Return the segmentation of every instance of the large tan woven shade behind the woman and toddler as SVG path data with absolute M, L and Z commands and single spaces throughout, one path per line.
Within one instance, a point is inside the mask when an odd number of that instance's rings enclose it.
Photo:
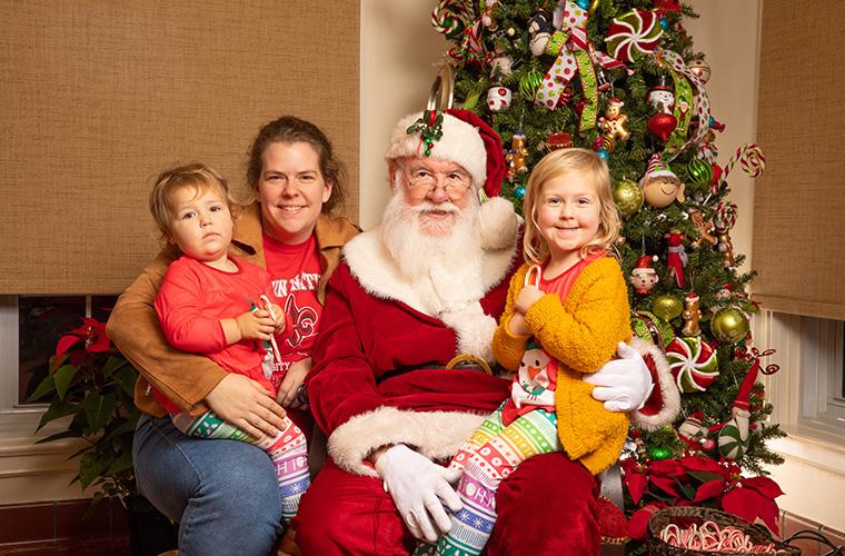
M 158 250 L 158 171 L 201 160 L 242 192 L 282 113 L 332 138 L 356 218 L 358 2 L 0 0 L 0 294 L 122 290 Z

